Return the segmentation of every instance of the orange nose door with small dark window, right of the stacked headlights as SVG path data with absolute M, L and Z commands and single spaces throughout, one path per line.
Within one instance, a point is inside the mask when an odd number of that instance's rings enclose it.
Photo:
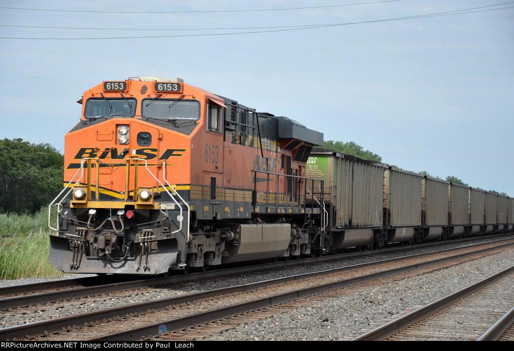
M 130 124 L 130 158 L 139 158 L 146 160 L 148 169 L 152 172 L 157 179 L 162 179 L 159 175 L 159 143 L 162 139 L 162 134 L 159 129 L 151 127 L 147 124 L 139 122 L 132 122 Z M 128 189 L 131 191 L 137 191 L 139 187 L 158 187 L 159 183 L 149 174 L 145 168 L 143 161 L 138 162 L 138 166 L 131 162 L 131 166 L 128 169 L 129 172 L 129 186 Z M 137 173 L 137 174 L 136 174 Z M 137 177 L 136 177 L 137 175 Z

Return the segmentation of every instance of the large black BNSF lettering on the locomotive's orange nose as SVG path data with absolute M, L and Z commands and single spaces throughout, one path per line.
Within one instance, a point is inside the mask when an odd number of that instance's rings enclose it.
M 159 157 L 159 160 L 168 160 L 170 157 L 174 156 L 182 156 L 183 152 L 186 151 L 186 149 L 167 149 L 164 151 L 161 156 Z M 141 156 L 142 159 L 145 160 L 153 160 L 158 155 L 158 150 L 154 148 L 142 148 L 142 149 L 136 149 L 133 152 L 134 155 Z M 100 160 L 103 159 L 113 159 L 113 160 L 123 160 L 128 156 L 128 149 L 124 148 L 123 150 L 118 151 L 115 147 L 108 147 L 104 150 L 100 150 L 94 147 L 82 147 L 79 149 L 77 154 L 75 155 L 75 160 L 81 160 L 83 158 L 99 158 Z

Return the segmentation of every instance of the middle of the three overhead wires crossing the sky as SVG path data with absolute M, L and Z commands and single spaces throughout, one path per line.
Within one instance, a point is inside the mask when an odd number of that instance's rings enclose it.
M 442 15 L 446 13 L 453 13 L 453 12 L 462 12 L 462 11 L 471 11 L 471 10 L 478 10 L 483 9 L 486 7 L 492 7 L 492 6 L 500 6 L 500 5 L 506 5 L 506 4 L 514 4 L 514 1 L 508 2 L 508 3 L 501 3 L 501 4 L 494 4 L 494 5 L 486 5 L 486 6 L 480 6 L 480 7 L 473 7 L 469 9 L 464 10 L 454 10 L 454 11 L 447 11 L 447 12 L 439 12 L 432 15 Z M 507 9 L 510 7 L 503 7 L 495 10 L 502 10 Z M 478 12 L 478 11 L 477 11 Z M 411 17 L 423 17 L 427 15 L 420 15 L 420 16 L 410 16 Z M 407 18 L 407 17 L 406 17 Z M 394 20 L 394 18 L 392 19 Z M 0 24 L 0 27 L 14 27 L 14 28 L 44 28 L 44 29 L 79 29 L 79 30 L 240 30 L 240 29 L 277 29 L 277 28 L 302 28 L 302 27 L 323 27 L 323 26 L 332 26 L 332 25 L 344 25 L 340 23 L 332 23 L 332 24 L 309 24 L 309 25 L 296 25 L 296 26 L 265 26 L 265 27 L 229 27 L 229 28 L 93 28 L 93 27 L 57 27 L 57 26 L 25 26 L 25 25 L 6 25 L 6 24 Z

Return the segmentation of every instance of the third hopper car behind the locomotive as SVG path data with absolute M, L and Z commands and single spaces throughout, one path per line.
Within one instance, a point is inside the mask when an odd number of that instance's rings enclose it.
M 423 233 L 421 239 L 446 239 L 448 236 L 448 195 L 450 183 L 424 177 L 421 182 L 421 214 Z

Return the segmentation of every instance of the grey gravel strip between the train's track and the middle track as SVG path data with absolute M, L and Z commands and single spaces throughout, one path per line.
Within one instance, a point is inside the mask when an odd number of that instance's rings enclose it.
M 501 239 L 514 237 L 505 236 Z M 465 242 L 443 242 L 439 245 L 430 247 L 415 247 L 410 246 L 408 251 L 396 252 L 373 252 L 370 251 L 369 255 L 353 257 L 353 258 L 340 258 L 331 261 L 315 262 L 308 264 L 301 264 L 298 266 L 286 266 L 284 268 L 274 268 L 267 270 L 249 271 L 242 274 L 232 274 L 223 277 L 207 278 L 199 281 L 186 281 L 180 283 L 167 284 L 158 287 L 141 288 L 129 291 L 114 291 L 113 293 L 102 294 L 95 296 L 93 299 L 77 298 L 69 301 L 48 302 L 31 306 L 30 312 L 16 313 L 9 311 L 0 311 L 0 328 L 8 326 L 26 324 L 36 321 L 56 319 L 60 317 L 70 316 L 79 313 L 86 313 L 99 309 L 106 309 L 126 304 L 133 304 L 145 301 L 158 300 L 178 295 L 186 295 L 204 291 L 209 289 L 222 288 L 233 285 L 247 284 L 251 282 L 258 282 L 268 279 L 281 278 L 291 275 L 298 275 L 318 270 L 337 268 L 341 266 L 349 266 L 366 262 L 373 262 L 379 260 L 386 260 L 395 257 L 406 255 L 413 255 L 415 253 L 424 253 L 434 250 L 458 247 L 463 245 L 478 244 L 481 242 L 488 242 L 499 240 L 500 238 L 481 238 L 474 241 Z M 85 275 L 84 275 L 85 276 Z M 74 277 L 76 278 L 76 275 Z M 54 279 L 49 279 L 54 280 Z M 20 280 L 18 280 L 20 281 Z M 27 280 L 22 280 L 21 284 L 27 284 Z M 38 280 L 42 281 L 42 280 Z M 32 281 L 35 282 L 35 281 Z M 11 284 L 9 284 L 11 285 Z M 0 286 L 2 286 L 0 282 Z

